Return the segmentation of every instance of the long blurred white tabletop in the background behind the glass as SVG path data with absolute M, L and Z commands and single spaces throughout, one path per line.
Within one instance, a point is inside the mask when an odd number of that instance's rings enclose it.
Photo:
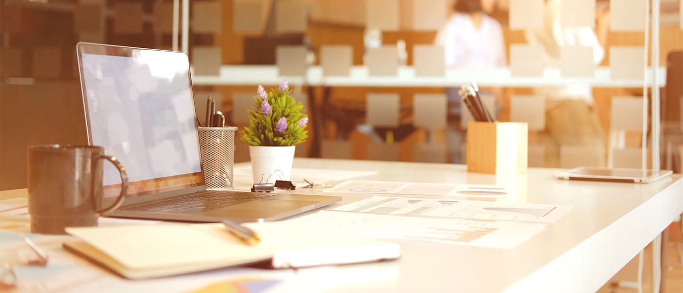
M 666 83 L 666 68 L 660 67 L 660 86 Z M 647 74 L 652 84 L 652 68 Z M 280 76 L 274 65 L 225 65 L 217 76 L 193 75 L 193 85 L 279 85 L 286 78 L 290 84 L 328 87 L 459 87 L 476 81 L 481 87 L 556 87 L 572 83 L 593 87 L 643 87 L 642 79 L 612 80 L 609 67 L 596 69 L 591 77 L 561 77 L 559 68 L 546 68 L 544 76 L 511 76 L 510 68 L 455 69 L 449 68 L 444 76 L 415 76 L 412 66 L 399 66 L 396 76 L 370 76 L 365 66 L 353 66 L 348 76 L 323 76 L 320 66 L 307 69 L 303 76 Z

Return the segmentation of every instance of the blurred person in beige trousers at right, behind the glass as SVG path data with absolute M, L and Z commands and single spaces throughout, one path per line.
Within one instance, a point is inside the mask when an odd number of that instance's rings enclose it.
M 591 27 L 562 27 L 559 10 L 560 0 L 546 0 L 544 28 L 525 31 L 529 44 L 543 46 L 545 66 L 559 67 L 563 46 L 590 46 L 593 48 L 594 63 L 600 64 L 605 55 L 609 11 L 603 7 L 596 12 L 596 34 Z M 546 129 L 540 135 L 545 148 L 546 167 L 560 167 L 561 145 L 587 147 L 594 154 L 592 165 L 604 166 L 604 132 L 598 120 L 592 87 L 585 83 L 568 83 L 561 87 L 535 88 L 533 92 L 546 98 Z

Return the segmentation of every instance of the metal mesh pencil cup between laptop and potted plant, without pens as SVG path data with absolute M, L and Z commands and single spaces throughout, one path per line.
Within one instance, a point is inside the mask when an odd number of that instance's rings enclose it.
M 231 190 L 237 127 L 199 127 L 198 129 L 201 169 L 204 169 L 206 189 Z

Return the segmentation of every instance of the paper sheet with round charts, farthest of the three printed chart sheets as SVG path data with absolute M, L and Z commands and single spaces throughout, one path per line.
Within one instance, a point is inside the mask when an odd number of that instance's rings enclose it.
M 348 180 L 324 192 L 397 195 L 436 195 L 449 197 L 514 197 L 505 186 Z

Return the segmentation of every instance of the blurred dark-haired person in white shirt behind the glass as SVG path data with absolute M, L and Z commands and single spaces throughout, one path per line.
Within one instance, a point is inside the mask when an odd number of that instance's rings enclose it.
M 456 0 L 455 13 L 436 34 L 436 44 L 443 46 L 447 68 L 502 68 L 507 66 L 503 29 L 498 20 L 488 16 L 497 0 Z M 501 98 L 501 89 L 482 89 L 482 95 Z M 464 163 L 460 153 L 464 132 L 460 130 L 463 109 L 458 88 L 446 89 L 449 108 L 447 139 L 451 163 Z M 496 109 L 500 103 L 497 103 Z M 497 110 L 496 110 L 497 111 Z

